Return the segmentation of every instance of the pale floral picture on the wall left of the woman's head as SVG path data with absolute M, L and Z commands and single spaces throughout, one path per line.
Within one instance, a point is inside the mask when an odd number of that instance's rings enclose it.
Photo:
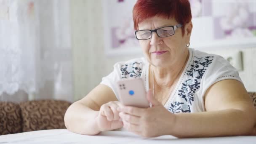
M 141 53 L 134 35 L 132 10 L 136 0 L 102 0 L 107 56 Z

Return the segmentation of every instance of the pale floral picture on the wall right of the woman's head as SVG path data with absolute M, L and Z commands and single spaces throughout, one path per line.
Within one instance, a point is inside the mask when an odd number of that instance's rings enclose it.
M 256 47 L 256 0 L 190 0 L 190 4 L 190 47 Z

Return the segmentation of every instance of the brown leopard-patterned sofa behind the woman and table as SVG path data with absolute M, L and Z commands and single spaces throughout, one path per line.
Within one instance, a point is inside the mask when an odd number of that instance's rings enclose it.
M 256 108 L 256 93 L 249 93 Z M 40 100 L 20 104 L 0 102 L 0 135 L 66 128 L 67 101 Z

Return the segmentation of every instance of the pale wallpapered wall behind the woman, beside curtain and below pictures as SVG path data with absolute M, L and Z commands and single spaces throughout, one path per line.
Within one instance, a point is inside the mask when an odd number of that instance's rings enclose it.
M 112 71 L 115 62 L 142 55 L 106 57 L 101 0 L 72 0 L 70 3 L 74 92 L 75 100 L 78 100 L 86 96 L 101 82 L 103 76 Z M 256 48 L 241 50 L 244 71 L 240 72 L 240 76 L 248 91 L 256 91 Z M 214 53 L 221 54 L 222 51 Z

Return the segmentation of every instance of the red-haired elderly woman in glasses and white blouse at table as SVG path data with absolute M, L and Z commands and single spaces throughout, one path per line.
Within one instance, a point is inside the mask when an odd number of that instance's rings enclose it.
M 94 135 L 125 128 L 145 137 L 256 134 L 256 110 L 238 72 L 221 56 L 189 47 L 188 0 L 138 0 L 134 28 L 144 58 L 118 62 L 65 114 L 69 131 Z M 141 77 L 149 108 L 124 106 L 115 84 Z

